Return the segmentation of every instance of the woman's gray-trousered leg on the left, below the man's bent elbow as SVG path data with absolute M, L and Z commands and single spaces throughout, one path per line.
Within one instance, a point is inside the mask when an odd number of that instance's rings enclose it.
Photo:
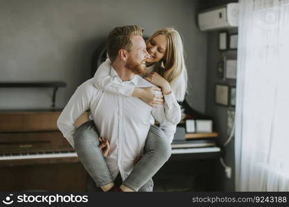
M 98 137 L 94 121 L 87 121 L 74 132 L 74 148 L 85 170 L 96 182 L 96 186 L 112 187 L 114 180 L 107 168 L 103 154 L 98 148 L 100 144 Z M 103 188 L 103 190 L 105 189 Z

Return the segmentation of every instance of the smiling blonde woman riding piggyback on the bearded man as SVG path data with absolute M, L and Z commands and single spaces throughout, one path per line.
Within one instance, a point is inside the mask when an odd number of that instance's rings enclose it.
M 144 79 L 150 81 L 161 88 L 164 95 L 164 101 L 162 95 L 156 95 L 155 88 L 134 88 L 133 86 L 123 86 L 123 83 L 116 81 L 110 76 L 110 59 L 107 59 L 94 75 L 94 85 L 97 88 L 101 88 L 106 92 L 117 93 L 123 96 L 139 97 L 150 106 L 157 107 L 157 104 L 164 104 L 166 119 L 172 124 L 177 124 L 180 121 L 181 111 L 177 101 L 183 101 L 186 93 L 187 77 L 186 66 L 184 63 L 182 39 L 179 33 L 173 28 L 164 28 L 152 34 L 152 37 L 146 41 L 148 53 L 150 59 L 147 60 L 148 74 Z M 170 142 L 164 132 L 162 132 L 157 126 L 154 126 L 154 120 L 151 120 L 152 126 L 148 132 L 146 144 L 144 150 L 146 151 L 142 155 L 142 159 L 134 166 L 134 169 L 130 175 L 123 181 L 121 190 L 123 191 L 151 191 L 152 180 L 150 179 L 155 172 L 161 168 L 161 166 L 170 157 Z M 96 128 L 90 124 L 84 124 L 76 129 L 75 140 L 77 144 L 77 137 L 85 137 L 84 133 L 89 133 L 92 137 L 99 137 Z M 80 142 L 79 142 L 80 143 Z M 108 141 L 102 137 L 99 137 L 97 144 L 102 152 L 103 156 L 107 156 L 110 150 Z M 81 152 L 86 150 L 85 146 L 77 146 L 76 151 Z M 157 162 L 156 162 L 157 160 Z M 154 166 L 150 166 L 150 164 Z M 85 161 L 84 161 L 85 162 Z M 90 166 L 85 168 L 95 180 L 98 179 L 97 175 L 94 175 L 94 170 Z M 88 162 L 88 161 L 87 161 Z M 105 165 L 104 159 L 97 161 L 98 164 Z M 143 173 L 143 169 L 153 168 L 149 170 L 150 173 Z M 148 171 L 148 170 L 146 170 Z M 109 174 L 109 170 L 107 170 Z M 137 177 L 137 178 L 136 178 Z M 150 179 L 150 180 L 149 180 Z M 111 179 L 107 179 L 107 184 L 100 186 L 102 190 L 119 190 L 114 185 Z M 149 181 L 148 181 L 149 180 Z M 146 183 L 148 181 L 148 183 Z

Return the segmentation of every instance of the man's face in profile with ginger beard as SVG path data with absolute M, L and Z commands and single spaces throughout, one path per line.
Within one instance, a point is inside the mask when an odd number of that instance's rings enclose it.
M 149 59 L 150 55 L 146 51 L 146 43 L 143 37 L 135 35 L 131 39 L 132 49 L 128 53 L 128 61 L 125 64 L 125 68 L 134 72 L 134 74 L 145 74 L 146 73 L 146 60 Z

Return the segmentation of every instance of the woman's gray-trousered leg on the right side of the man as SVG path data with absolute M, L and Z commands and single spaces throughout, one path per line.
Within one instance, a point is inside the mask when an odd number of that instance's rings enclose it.
M 130 175 L 123 181 L 126 186 L 134 191 L 138 191 L 142 186 L 153 188 L 151 177 L 165 164 L 170 158 L 171 146 L 164 132 L 157 126 L 150 126 L 146 144 L 144 146 L 144 156 L 136 166 L 134 166 Z M 148 183 L 149 182 L 149 183 Z M 149 190 L 147 190 L 149 191 Z

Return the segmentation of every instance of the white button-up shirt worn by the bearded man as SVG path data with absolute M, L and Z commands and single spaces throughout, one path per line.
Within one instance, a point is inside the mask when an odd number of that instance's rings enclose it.
M 112 67 L 110 75 L 121 81 Z M 139 75 L 130 81 L 123 81 L 123 84 L 134 87 L 153 86 Z M 159 121 L 169 141 L 173 141 L 176 125 L 167 121 L 164 106 L 152 108 L 141 99 L 105 92 L 94 86 L 94 79 L 89 79 L 74 92 L 57 122 L 58 128 L 73 147 L 73 133 L 76 130 L 74 123 L 89 109 L 100 136 L 110 141 L 111 150 L 105 162 L 113 179 L 120 172 L 124 180 L 132 171 L 134 159 L 143 150 L 151 115 Z

